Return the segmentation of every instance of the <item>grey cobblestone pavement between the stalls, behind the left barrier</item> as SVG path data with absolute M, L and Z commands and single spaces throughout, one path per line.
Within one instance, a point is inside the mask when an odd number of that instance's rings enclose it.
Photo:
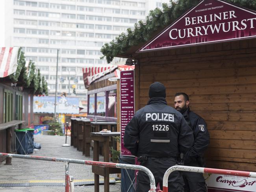
M 85 157 L 82 152 L 77 151 L 73 146 L 62 147 L 65 143 L 64 136 L 51 135 L 35 135 L 35 142 L 41 144 L 42 148 L 39 151 L 34 151 L 30 155 L 60 157 L 71 159 L 93 160 L 91 156 Z M 70 137 L 67 139 L 70 144 Z M 103 157 L 100 157 L 103 161 Z M 12 165 L 0 164 L 0 179 L 3 181 L 26 181 L 26 180 L 63 180 L 65 179 L 65 164 L 62 162 L 37 161 L 30 159 L 12 159 Z M 91 166 L 82 164 L 69 164 L 70 175 L 74 179 L 94 179 L 94 174 L 91 171 Z M 109 175 L 116 177 L 116 174 Z M 103 178 L 100 176 L 100 179 Z M 94 185 L 75 186 L 75 192 L 94 192 Z M 110 192 L 120 192 L 120 183 L 109 185 Z M 1 192 L 64 192 L 64 186 L 23 186 L 23 187 L 0 187 Z M 104 192 L 104 185 L 100 185 L 100 192 Z

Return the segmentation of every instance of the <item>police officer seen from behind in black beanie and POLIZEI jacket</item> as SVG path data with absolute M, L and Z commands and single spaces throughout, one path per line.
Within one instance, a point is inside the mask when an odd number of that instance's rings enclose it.
M 163 175 L 177 164 L 180 153 L 186 153 L 193 145 L 193 131 L 181 113 L 167 106 L 165 86 L 155 82 L 149 87 L 149 101 L 138 110 L 125 127 L 124 147 L 138 157 L 141 165 L 154 175 L 156 185 L 163 188 Z M 183 192 L 184 181 L 180 172 L 169 176 L 169 192 Z M 139 171 L 136 192 L 148 192 L 147 174 Z

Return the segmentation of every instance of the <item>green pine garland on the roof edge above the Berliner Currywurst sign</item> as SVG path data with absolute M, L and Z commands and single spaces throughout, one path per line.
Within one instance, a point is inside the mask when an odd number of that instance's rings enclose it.
M 226 1 L 256 10 L 256 0 Z M 170 0 L 169 4 L 163 3 L 161 9 L 157 7 L 151 10 L 145 20 L 139 20 L 134 24 L 133 29 L 128 28 L 125 33 L 104 44 L 100 50 L 103 54 L 101 59 L 106 57 L 107 62 L 110 63 L 117 55 L 125 54 L 130 47 L 149 41 L 155 31 L 165 28 L 199 2 L 200 0 Z

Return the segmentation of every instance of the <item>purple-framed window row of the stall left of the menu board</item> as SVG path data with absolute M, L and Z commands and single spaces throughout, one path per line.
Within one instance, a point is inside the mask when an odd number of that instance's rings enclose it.
M 98 92 L 88 96 L 88 115 L 117 118 L 117 90 Z

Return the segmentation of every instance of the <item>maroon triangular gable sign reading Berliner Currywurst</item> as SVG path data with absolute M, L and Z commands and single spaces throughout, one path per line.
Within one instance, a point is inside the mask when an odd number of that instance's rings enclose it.
M 256 12 L 221 0 L 203 0 L 138 52 L 256 37 Z

